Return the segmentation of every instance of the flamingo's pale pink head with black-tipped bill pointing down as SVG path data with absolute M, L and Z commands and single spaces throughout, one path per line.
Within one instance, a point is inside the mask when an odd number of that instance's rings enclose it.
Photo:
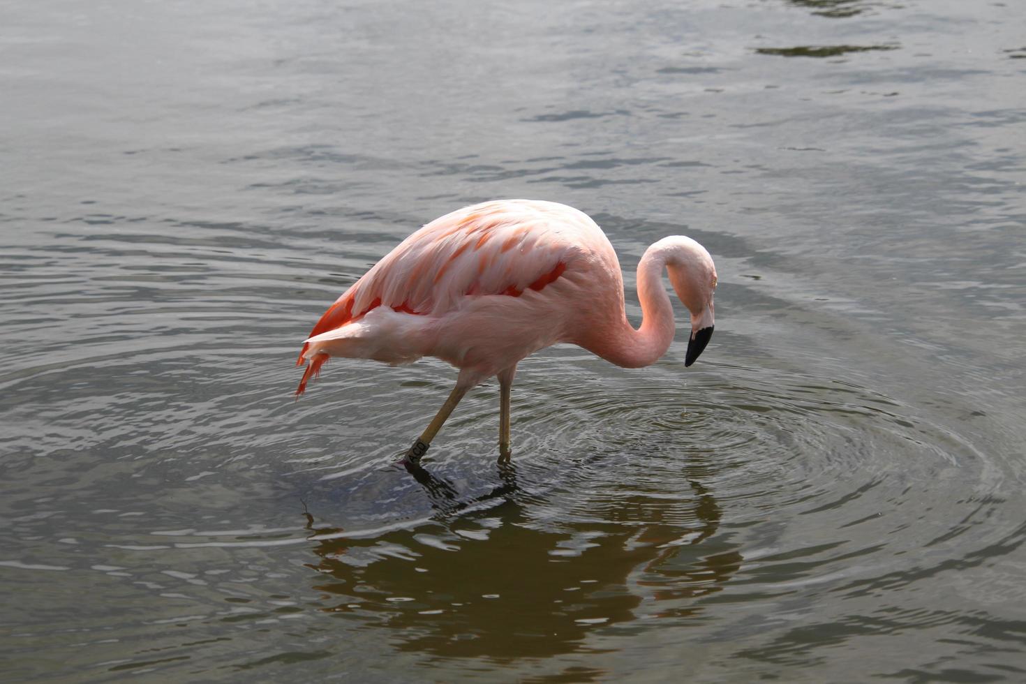
M 715 324 L 712 297 L 716 291 L 716 266 L 706 248 L 690 238 L 672 238 L 666 270 L 670 284 L 692 314 L 692 336 L 687 340 L 684 366 L 695 363 L 709 344 Z

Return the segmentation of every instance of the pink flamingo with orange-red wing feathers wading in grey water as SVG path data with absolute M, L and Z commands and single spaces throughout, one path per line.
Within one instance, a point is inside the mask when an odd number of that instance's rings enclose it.
M 303 343 L 300 395 L 332 356 L 399 365 L 433 356 L 460 369 L 456 387 L 403 458 L 417 466 L 468 390 L 499 376 L 500 458 L 510 455 L 516 365 L 571 343 L 625 368 L 658 361 L 676 323 L 663 269 L 690 314 L 684 366 L 713 331 L 716 267 L 683 236 L 649 246 L 637 270 L 642 322 L 627 320 L 617 254 L 584 212 L 556 202 L 498 200 L 434 219 L 385 255 L 321 316 Z

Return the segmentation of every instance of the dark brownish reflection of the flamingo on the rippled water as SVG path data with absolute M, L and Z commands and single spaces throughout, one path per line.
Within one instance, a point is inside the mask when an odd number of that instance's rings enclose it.
M 322 610 L 387 627 L 400 650 L 494 659 L 588 650 L 590 632 L 637 620 L 646 598 L 715 593 L 741 565 L 735 550 L 692 552 L 681 565 L 681 548 L 701 548 L 722 515 L 712 491 L 686 473 L 686 529 L 639 493 L 601 520 L 558 530 L 540 529 L 534 509 L 544 504 L 521 487 L 515 464 L 500 461 L 500 484 L 476 497 L 425 468 L 407 473 L 434 511 L 418 529 L 352 538 L 306 513 Z

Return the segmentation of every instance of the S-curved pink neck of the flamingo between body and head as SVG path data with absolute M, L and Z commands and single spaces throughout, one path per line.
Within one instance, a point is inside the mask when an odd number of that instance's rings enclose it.
M 657 245 L 645 250 L 638 263 L 638 299 L 641 301 L 641 327 L 637 330 L 627 320 L 623 309 L 619 321 L 600 339 L 588 346 L 591 352 L 625 368 L 650 366 L 666 354 L 677 325 L 673 307 L 663 286 L 666 251 Z

